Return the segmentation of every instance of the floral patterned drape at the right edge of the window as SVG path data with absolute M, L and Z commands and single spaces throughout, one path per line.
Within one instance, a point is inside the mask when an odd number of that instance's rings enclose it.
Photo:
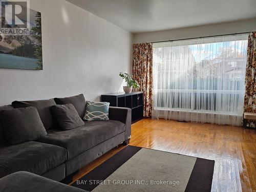
M 248 39 L 244 112 L 256 113 L 256 32 L 251 32 Z M 246 123 L 256 127 L 255 121 Z

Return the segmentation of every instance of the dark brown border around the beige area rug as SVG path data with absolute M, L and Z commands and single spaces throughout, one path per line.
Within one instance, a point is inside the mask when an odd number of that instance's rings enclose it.
M 138 147 L 133 145 L 128 145 L 125 148 L 123 148 L 121 151 L 101 163 L 99 166 L 91 170 L 88 174 L 84 175 L 83 177 L 77 179 L 77 180 L 105 180 L 108 178 L 111 174 L 113 174 L 122 164 L 124 164 L 126 161 L 128 161 L 131 157 L 133 157 L 137 152 L 141 150 L 141 148 L 146 147 Z M 148 150 L 155 150 L 153 148 L 146 148 Z M 212 177 L 214 174 L 214 160 L 208 160 L 203 158 L 198 158 L 194 156 L 188 156 L 183 155 L 179 153 L 172 153 L 172 152 L 166 152 L 161 150 L 155 150 L 165 153 L 171 153 L 171 154 L 177 154 L 187 157 L 193 157 L 196 158 L 195 165 L 193 167 L 193 170 L 190 174 L 185 192 L 208 192 L 211 190 L 211 184 L 212 184 Z M 99 174 L 100 173 L 100 174 Z M 204 185 L 202 185 L 204 183 Z M 76 181 L 72 184 L 72 186 L 81 188 L 87 191 L 92 191 L 94 188 L 96 188 L 99 184 L 82 184 L 78 185 L 76 184 Z

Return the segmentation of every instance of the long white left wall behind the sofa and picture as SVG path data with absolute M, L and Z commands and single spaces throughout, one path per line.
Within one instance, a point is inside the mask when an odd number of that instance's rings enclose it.
M 133 35 L 65 0 L 30 0 L 41 12 L 43 71 L 0 69 L 0 105 L 118 92 L 131 72 Z

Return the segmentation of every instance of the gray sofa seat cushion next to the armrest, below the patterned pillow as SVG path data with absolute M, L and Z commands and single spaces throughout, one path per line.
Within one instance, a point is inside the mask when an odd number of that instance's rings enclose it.
M 69 160 L 124 130 L 125 124 L 120 121 L 90 121 L 68 131 L 49 130 L 47 136 L 41 137 L 38 141 L 66 148 Z

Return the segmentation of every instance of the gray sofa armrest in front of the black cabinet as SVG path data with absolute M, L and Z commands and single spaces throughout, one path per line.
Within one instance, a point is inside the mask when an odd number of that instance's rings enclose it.
M 130 108 L 118 108 L 110 106 L 109 108 L 109 119 L 118 120 L 125 124 L 125 138 L 124 140 L 131 138 L 131 109 Z

